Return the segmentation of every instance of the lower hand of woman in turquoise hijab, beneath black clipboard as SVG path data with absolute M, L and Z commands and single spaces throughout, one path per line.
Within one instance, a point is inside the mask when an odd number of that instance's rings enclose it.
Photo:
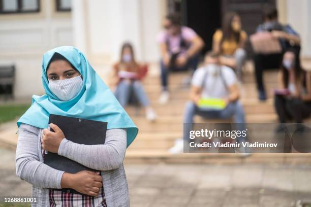
M 72 188 L 86 195 L 96 196 L 103 186 L 100 172 L 82 170 L 76 174 L 65 172 L 61 178 L 61 188 Z

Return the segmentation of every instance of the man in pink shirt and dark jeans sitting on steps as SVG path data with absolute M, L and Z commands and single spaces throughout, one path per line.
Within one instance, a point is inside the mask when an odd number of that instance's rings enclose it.
M 160 103 L 166 103 L 169 99 L 168 73 L 170 71 L 184 71 L 189 68 L 196 70 L 198 53 L 204 47 L 202 38 L 192 28 L 180 24 L 178 14 L 166 16 L 163 26 L 165 30 L 158 35 L 162 56 Z

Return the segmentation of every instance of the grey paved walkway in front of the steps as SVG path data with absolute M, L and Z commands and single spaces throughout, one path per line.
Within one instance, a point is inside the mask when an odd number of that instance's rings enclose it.
M 14 151 L 0 148 L 0 196 L 30 195 L 15 176 Z M 311 166 L 125 164 L 131 206 L 295 206 L 311 199 Z

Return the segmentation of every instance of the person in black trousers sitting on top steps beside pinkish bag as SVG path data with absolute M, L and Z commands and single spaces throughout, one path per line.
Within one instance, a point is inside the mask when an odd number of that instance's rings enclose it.
M 256 32 L 271 32 L 272 36 L 280 41 L 283 51 L 289 47 L 294 47 L 299 53 L 300 38 L 298 33 L 290 25 L 282 25 L 278 22 L 275 8 L 266 8 L 264 13 L 265 21 L 257 27 Z M 254 54 L 255 76 L 260 100 L 267 98 L 263 84 L 263 71 L 264 69 L 278 68 L 282 61 L 283 51 L 273 54 Z

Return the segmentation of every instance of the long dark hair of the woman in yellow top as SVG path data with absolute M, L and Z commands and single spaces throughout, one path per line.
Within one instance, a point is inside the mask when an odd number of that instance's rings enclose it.
M 239 16 L 239 15 L 236 12 L 228 12 L 224 16 L 223 24 L 222 24 L 223 38 L 222 38 L 221 43 L 223 43 L 225 40 L 228 40 L 232 37 L 237 43 L 240 41 L 240 32 L 234 31 L 231 26 L 232 20 L 235 16 Z

